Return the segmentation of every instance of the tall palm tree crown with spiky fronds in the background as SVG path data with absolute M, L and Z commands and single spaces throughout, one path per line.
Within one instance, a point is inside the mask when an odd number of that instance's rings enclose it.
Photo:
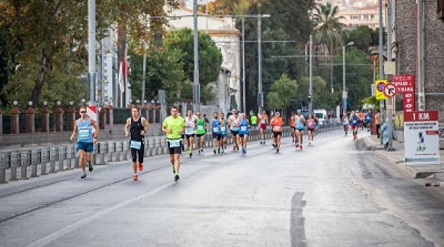
M 318 44 L 325 44 L 332 54 L 336 47 L 343 45 L 342 32 L 345 24 L 340 23 L 344 16 L 338 14 L 338 6 L 332 6 L 330 2 L 326 5 L 315 6 L 316 13 L 313 16 L 314 40 Z

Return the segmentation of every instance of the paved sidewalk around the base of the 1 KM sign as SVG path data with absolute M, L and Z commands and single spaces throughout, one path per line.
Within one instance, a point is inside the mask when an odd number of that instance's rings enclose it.
M 440 164 L 414 164 L 406 165 L 404 162 L 404 143 L 393 140 L 395 151 L 387 151 L 381 140 L 376 135 L 366 135 L 362 139 L 362 145 L 366 150 L 374 150 L 375 155 L 386 159 L 402 174 L 413 179 L 424 179 L 435 175 L 436 178 L 444 181 L 444 150 L 440 150 Z

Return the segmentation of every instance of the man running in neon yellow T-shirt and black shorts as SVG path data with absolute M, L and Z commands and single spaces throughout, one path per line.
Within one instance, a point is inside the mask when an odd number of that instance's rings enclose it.
M 162 131 L 166 133 L 166 140 L 168 142 L 168 149 L 170 152 L 170 162 L 173 165 L 174 181 L 180 179 L 180 147 L 182 141 L 180 136 L 185 130 L 185 120 L 178 115 L 178 107 L 171 107 L 171 116 L 166 117 L 162 124 Z

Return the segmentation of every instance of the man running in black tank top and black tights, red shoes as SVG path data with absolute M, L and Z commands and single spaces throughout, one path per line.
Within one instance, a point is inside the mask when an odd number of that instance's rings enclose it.
M 130 150 L 132 157 L 132 171 L 134 171 L 134 181 L 139 179 L 137 175 L 137 161 L 139 161 L 139 171 L 143 170 L 143 155 L 145 150 L 145 133 L 149 130 L 149 123 L 144 117 L 140 117 L 137 107 L 131 108 L 131 117 L 126 120 L 125 136 L 130 137 Z M 130 131 L 128 132 L 128 127 Z

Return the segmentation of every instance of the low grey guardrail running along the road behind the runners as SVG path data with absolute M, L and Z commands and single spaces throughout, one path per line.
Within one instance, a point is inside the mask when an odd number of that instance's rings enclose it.
M 318 126 L 319 132 L 331 131 L 342 126 L 340 123 L 329 123 Z M 266 138 L 272 138 L 270 129 L 266 130 Z M 291 136 L 290 127 L 283 128 L 283 137 Z M 259 140 L 259 130 L 250 130 L 248 141 Z M 197 138 L 194 147 L 197 148 Z M 227 135 L 227 144 L 233 144 L 230 133 Z M 204 147 L 212 147 L 211 133 L 204 137 Z M 94 144 L 92 164 L 107 164 L 130 159 L 129 140 L 99 142 Z M 144 156 L 167 155 L 168 145 L 165 136 L 145 138 Z M 0 183 L 30 179 L 42 175 L 79 168 L 79 155 L 75 145 L 60 147 L 43 147 L 37 149 L 0 152 Z

